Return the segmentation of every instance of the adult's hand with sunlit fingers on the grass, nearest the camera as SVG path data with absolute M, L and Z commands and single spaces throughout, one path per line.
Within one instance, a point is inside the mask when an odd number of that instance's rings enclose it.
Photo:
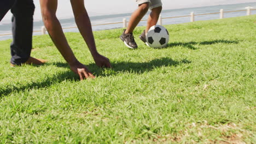
M 84 80 L 85 79 L 88 79 L 88 78 L 92 78 L 94 79 L 95 76 L 92 75 L 92 73 L 90 72 L 90 70 L 85 67 L 84 64 L 80 63 L 80 62 L 76 62 L 74 64 L 70 64 L 70 69 L 75 73 L 75 74 L 78 74 L 79 77 L 80 77 L 80 80 Z

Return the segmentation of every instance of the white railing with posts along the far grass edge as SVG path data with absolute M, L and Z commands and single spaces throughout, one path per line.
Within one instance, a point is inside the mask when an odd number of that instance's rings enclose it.
M 219 12 L 216 12 L 216 13 L 194 14 L 194 12 L 191 12 L 190 15 L 173 16 L 173 17 L 162 17 L 160 15 L 159 16 L 159 20 L 158 20 L 158 25 L 162 25 L 162 20 L 163 19 L 174 19 L 174 18 L 177 18 L 177 17 L 190 17 L 190 22 L 194 22 L 195 21 L 195 16 L 199 16 L 199 15 L 219 14 L 219 19 L 223 19 L 224 18 L 224 13 L 246 11 L 246 15 L 251 15 L 251 11 L 252 10 L 256 10 L 256 9 L 251 9 L 251 7 L 246 7 L 245 10 L 232 10 L 232 11 L 224 11 L 223 9 L 220 9 Z M 141 20 L 141 21 L 147 21 L 147 20 Z M 127 27 L 128 21 L 126 19 L 123 19 L 123 22 L 102 23 L 102 24 L 92 25 L 92 26 L 113 25 L 113 24 L 118 24 L 118 23 L 123 23 L 123 27 L 125 28 L 125 27 Z M 62 28 L 62 29 L 71 29 L 71 28 L 77 28 L 77 27 L 66 27 L 66 28 Z M 44 26 L 42 26 L 41 31 L 33 31 L 33 32 L 41 32 L 42 34 L 46 34 L 47 30 L 46 30 L 46 28 Z M 11 35 L 11 33 L 0 34 L 0 36 L 3 36 L 3 35 Z

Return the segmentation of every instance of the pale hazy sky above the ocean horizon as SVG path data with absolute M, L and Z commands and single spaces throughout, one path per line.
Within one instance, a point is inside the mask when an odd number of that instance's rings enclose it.
M 256 0 L 162 0 L 163 10 L 249 2 L 256 2 Z M 57 17 L 59 19 L 73 17 L 70 0 L 59 0 L 58 3 Z M 36 5 L 34 20 L 41 20 L 39 0 L 34 0 L 34 4 Z M 85 8 L 90 16 L 97 16 L 132 13 L 137 8 L 137 4 L 135 0 L 85 0 Z M 10 17 L 11 13 L 8 12 L 2 22 L 10 21 Z

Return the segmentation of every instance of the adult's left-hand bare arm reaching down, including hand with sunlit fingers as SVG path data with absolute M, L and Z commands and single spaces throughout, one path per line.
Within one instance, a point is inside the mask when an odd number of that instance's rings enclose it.
M 60 22 L 56 17 L 57 0 L 40 0 L 40 7 L 44 26 L 46 27 L 55 46 L 70 65 L 71 70 L 80 76 L 80 80 L 83 80 L 84 77 L 94 78 L 95 76 L 91 74 L 88 68 L 75 58 L 73 51 L 67 43 L 67 39 L 62 31 Z

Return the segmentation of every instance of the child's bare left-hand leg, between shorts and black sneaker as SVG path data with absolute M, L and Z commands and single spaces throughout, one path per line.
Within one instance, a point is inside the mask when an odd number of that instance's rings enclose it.
M 131 15 L 125 34 L 133 32 L 135 27 L 138 25 L 139 21 L 141 21 L 143 16 L 148 12 L 148 9 L 149 3 L 143 3 L 139 5 L 138 9 L 134 11 Z

